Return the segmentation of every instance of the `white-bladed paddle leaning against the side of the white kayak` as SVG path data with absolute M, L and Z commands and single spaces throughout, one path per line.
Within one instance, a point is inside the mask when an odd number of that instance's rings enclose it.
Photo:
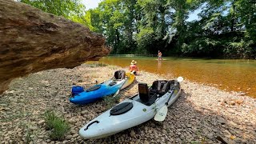
M 182 82 L 183 78 L 182 77 L 178 77 L 177 81 L 178 82 Z M 174 88 L 171 89 L 170 98 L 171 98 L 172 94 L 174 94 Z M 155 114 L 155 116 L 154 116 L 154 120 L 155 121 L 162 122 L 163 120 L 165 120 L 166 115 L 167 115 L 167 111 L 168 111 L 167 106 L 168 106 L 168 102 L 170 101 L 170 98 L 168 98 L 168 101 L 165 103 L 165 105 L 162 106 L 160 110 L 158 110 L 157 114 Z

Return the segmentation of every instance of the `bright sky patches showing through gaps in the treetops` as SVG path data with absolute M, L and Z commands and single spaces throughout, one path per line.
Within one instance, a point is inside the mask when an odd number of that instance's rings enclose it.
M 93 9 L 98 6 L 98 3 L 102 2 L 102 0 L 82 0 L 82 4 L 86 6 L 86 10 Z M 189 15 L 189 18 L 186 20 L 187 22 L 198 19 L 198 14 L 201 10 L 195 10 L 194 13 Z

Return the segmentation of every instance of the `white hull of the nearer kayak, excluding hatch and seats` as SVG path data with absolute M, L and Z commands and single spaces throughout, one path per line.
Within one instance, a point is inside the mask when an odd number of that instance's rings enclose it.
M 126 99 L 124 102 L 131 102 L 133 107 L 124 114 L 110 115 L 110 110 L 94 118 L 79 130 L 79 135 L 86 139 L 97 139 L 116 134 L 122 130 L 137 126 L 154 118 L 157 111 L 165 105 L 168 98 L 168 106 L 172 105 L 181 93 L 181 89 L 174 90 L 174 93 L 167 92 L 162 97 L 157 98 L 153 104 L 146 106 L 139 98 L 139 95 Z

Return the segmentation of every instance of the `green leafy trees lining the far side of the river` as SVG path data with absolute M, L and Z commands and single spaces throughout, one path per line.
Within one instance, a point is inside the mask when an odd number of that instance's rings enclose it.
M 256 58 L 254 0 L 103 0 L 87 11 L 81 0 L 20 1 L 103 34 L 112 54 Z

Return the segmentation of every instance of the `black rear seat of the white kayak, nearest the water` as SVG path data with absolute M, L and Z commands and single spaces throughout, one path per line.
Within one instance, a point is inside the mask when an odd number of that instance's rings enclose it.
M 160 80 L 154 81 L 153 85 L 150 87 L 150 91 L 154 91 L 161 97 L 162 95 L 166 94 L 168 90 L 170 90 L 170 85 L 172 81 Z

